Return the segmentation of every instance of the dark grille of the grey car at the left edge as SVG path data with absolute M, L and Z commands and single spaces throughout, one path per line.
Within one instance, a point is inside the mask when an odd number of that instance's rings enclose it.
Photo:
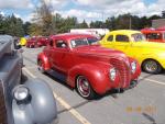
M 0 124 L 8 124 L 3 87 L 1 82 L 0 82 Z

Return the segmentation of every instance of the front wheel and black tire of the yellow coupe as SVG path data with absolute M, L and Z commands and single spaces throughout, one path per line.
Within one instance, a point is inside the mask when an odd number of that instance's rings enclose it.
M 162 66 L 156 60 L 148 59 L 142 64 L 142 69 L 148 74 L 160 74 Z

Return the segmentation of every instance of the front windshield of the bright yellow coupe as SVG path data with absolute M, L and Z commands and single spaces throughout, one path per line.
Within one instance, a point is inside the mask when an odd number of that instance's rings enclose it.
M 142 42 L 142 41 L 146 41 L 145 36 L 141 33 L 135 33 L 131 35 L 131 38 L 133 42 Z

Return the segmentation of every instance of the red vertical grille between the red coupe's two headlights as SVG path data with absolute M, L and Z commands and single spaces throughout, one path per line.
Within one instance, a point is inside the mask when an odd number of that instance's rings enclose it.
M 121 88 L 125 88 L 131 80 L 130 65 L 128 59 L 122 58 L 111 58 L 110 63 L 120 72 Z

